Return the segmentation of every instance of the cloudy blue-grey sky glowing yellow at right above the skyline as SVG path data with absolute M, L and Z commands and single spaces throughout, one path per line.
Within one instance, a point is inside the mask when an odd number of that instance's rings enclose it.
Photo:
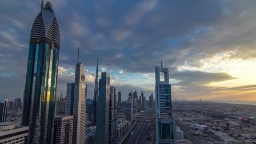
M 57 95 L 75 80 L 77 48 L 88 98 L 99 71 L 128 98 L 155 96 L 168 67 L 172 99 L 256 101 L 255 0 L 50 0 L 61 33 Z M 45 1 L 46 2 L 46 1 Z M 23 97 L 30 30 L 40 0 L 0 0 L 0 95 Z

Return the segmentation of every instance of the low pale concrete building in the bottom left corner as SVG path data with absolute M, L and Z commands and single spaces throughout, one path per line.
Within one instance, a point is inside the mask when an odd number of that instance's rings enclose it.
M 26 144 L 28 133 L 28 126 L 0 132 L 0 144 Z

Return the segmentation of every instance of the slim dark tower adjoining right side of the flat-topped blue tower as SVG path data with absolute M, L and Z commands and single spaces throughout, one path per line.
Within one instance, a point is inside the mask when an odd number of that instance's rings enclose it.
M 115 87 L 110 86 L 109 94 L 109 144 L 115 141 L 115 129 L 117 128 L 117 94 Z

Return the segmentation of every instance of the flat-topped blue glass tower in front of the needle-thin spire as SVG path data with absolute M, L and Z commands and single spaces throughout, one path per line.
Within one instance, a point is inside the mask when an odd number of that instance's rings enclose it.
M 101 72 L 97 104 L 96 144 L 109 143 L 109 95 L 110 75 L 107 72 Z

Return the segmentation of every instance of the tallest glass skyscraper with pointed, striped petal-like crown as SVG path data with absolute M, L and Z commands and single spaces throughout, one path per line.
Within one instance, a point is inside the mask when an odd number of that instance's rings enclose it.
M 29 40 L 22 125 L 28 144 L 51 143 L 59 64 L 59 26 L 50 2 L 38 13 Z

